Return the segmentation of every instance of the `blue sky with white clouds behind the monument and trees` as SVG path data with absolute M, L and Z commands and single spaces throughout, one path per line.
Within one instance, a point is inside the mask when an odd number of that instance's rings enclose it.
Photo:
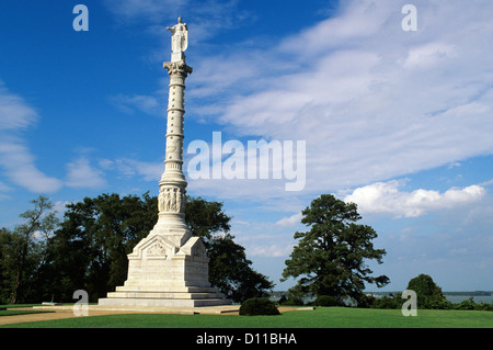
M 89 31 L 76 32 L 76 4 Z M 417 31 L 403 31 L 412 3 Z M 185 170 L 193 140 L 305 140 L 306 187 L 188 179 L 225 203 L 255 269 L 279 283 L 322 193 L 358 204 L 389 291 L 427 273 L 493 290 L 491 1 L 3 1 L 0 225 L 28 201 L 158 193 L 170 59 L 188 25 Z M 227 157 L 227 156 L 225 156 Z M 368 290 L 376 290 L 368 286 Z

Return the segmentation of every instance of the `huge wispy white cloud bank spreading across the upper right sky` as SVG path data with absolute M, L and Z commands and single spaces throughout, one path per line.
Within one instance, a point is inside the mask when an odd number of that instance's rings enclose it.
M 491 154 L 493 3 L 474 3 L 417 1 L 419 30 L 404 32 L 402 3 L 347 1 L 268 50 L 203 59 L 239 70 L 222 83 L 223 70 L 204 72 L 196 97 L 205 105 L 192 114 L 216 113 L 238 135 L 306 139 L 306 193 Z M 227 104 L 216 103 L 218 93 Z

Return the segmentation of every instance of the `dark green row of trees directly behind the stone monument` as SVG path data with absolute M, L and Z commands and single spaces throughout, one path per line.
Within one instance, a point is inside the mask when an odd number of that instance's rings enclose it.
M 90 302 L 106 296 L 124 284 L 127 255 L 158 218 L 158 200 L 149 193 L 85 197 L 68 204 L 61 219 L 45 196 L 32 205 L 21 225 L 0 230 L 0 304 L 73 302 L 76 290 L 85 290 Z M 232 291 L 236 302 L 267 295 L 274 283 L 251 267 L 229 234 L 222 203 L 188 196 L 185 217 L 204 240 L 213 285 Z

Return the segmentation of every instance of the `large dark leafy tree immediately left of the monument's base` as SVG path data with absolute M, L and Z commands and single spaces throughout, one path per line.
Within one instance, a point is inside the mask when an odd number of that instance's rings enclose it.
M 122 285 L 127 255 L 152 229 L 157 214 L 157 200 L 148 193 L 142 199 L 102 194 L 68 204 L 50 241 L 54 293 L 67 301 L 73 291 L 84 289 L 94 301 Z

